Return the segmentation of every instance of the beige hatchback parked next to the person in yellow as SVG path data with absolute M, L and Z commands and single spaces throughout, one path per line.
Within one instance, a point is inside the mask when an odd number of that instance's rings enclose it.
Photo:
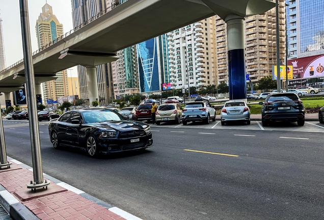
M 179 103 L 162 104 L 158 106 L 155 113 L 156 124 L 161 122 L 176 122 L 180 124 L 182 107 Z

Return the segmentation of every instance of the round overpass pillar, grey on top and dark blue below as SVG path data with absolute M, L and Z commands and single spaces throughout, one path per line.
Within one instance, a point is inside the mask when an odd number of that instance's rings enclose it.
M 244 18 L 227 15 L 228 86 L 229 99 L 247 99 L 244 51 Z

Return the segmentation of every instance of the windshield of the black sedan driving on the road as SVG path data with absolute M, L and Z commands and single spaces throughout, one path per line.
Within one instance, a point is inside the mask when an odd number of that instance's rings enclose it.
M 104 121 L 120 121 L 125 120 L 124 117 L 109 110 L 91 110 L 83 112 L 83 118 L 86 124 Z

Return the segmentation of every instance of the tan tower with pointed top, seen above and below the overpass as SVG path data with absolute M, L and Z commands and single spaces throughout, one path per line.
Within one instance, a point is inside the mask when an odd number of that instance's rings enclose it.
M 42 7 L 42 12 L 36 20 L 36 35 L 38 48 L 45 46 L 49 42 L 56 40 L 64 34 L 63 24 L 59 22 L 57 17 L 53 14 L 52 7 L 47 3 Z M 53 99 L 67 96 L 67 70 L 63 70 L 56 74 L 58 78 L 42 83 L 43 100 Z

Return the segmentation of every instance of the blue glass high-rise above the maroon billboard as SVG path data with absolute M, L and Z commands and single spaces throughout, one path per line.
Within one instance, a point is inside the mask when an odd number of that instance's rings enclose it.
M 286 0 L 289 60 L 324 54 L 324 2 Z

